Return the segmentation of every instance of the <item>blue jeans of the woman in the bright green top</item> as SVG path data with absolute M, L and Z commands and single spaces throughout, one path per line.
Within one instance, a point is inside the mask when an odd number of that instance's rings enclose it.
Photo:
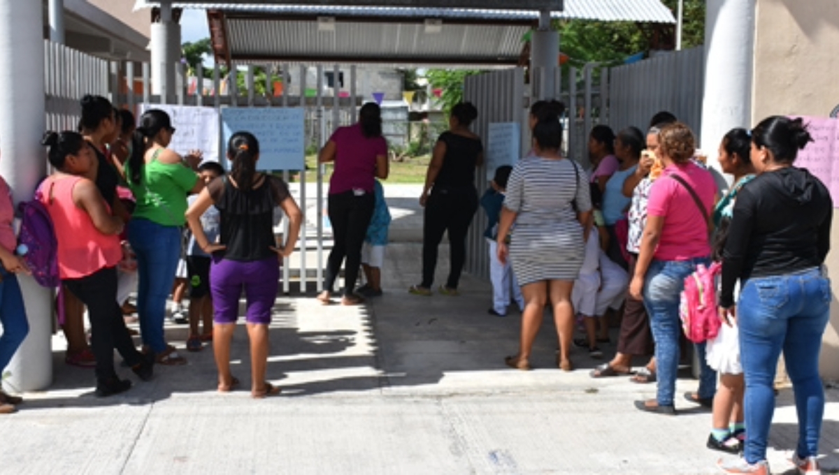
M 137 254 L 137 313 L 143 344 L 155 354 L 166 349 L 163 323 L 166 298 L 175 283 L 180 258 L 180 227 L 135 218 L 128 221 L 128 240 Z

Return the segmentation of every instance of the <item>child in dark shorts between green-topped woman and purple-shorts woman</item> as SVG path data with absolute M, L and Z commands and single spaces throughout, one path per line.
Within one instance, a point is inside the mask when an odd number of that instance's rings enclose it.
M 216 162 L 201 163 L 198 174 L 204 183 L 209 184 L 213 179 L 224 174 L 224 168 Z M 197 199 L 197 195 L 189 197 L 190 206 Z M 210 242 L 216 242 L 219 235 L 221 217 L 215 206 L 210 206 L 201 214 L 201 229 Z M 212 341 L 212 298 L 210 296 L 210 263 L 209 254 L 201 250 L 195 243 L 195 235 L 190 235 L 190 243 L 186 248 L 186 269 L 190 284 L 190 338 L 186 339 L 187 351 L 201 351 L 201 342 Z M 203 323 L 203 333 L 198 333 L 198 321 Z

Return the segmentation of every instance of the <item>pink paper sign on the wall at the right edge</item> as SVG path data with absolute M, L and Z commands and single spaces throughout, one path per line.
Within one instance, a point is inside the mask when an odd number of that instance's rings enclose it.
M 827 117 L 801 116 L 808 124 L 808 131 L 814 142 L 798 152 L 795 166 L 807 168 L 818 177 L 831 192 L 833 204 L 839 207 L 839 120 Z

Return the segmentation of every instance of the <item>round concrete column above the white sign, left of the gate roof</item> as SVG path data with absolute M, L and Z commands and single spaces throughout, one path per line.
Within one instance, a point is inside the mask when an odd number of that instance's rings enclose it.
M 172 22 L 172 3 L 160 3 L 160 23 L 151 25 L 152 94 L 175 97 L 175 63 L 180 61 L 180 25 Z

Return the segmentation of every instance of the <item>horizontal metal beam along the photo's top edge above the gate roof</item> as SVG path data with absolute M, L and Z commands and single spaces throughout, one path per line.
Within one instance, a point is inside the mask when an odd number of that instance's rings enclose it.
M 206 3 L 206 0 L 177 0 L 176 3 Z M 228 5 L 253 4 L 253 0 L 226 0 Z M 335 5 L 335 0 L 263 0 L 263 5 Z M 491 10 L 550 10 L 561 12 L 564 0 L 341 0 L 347 7 L 477 8 Z

